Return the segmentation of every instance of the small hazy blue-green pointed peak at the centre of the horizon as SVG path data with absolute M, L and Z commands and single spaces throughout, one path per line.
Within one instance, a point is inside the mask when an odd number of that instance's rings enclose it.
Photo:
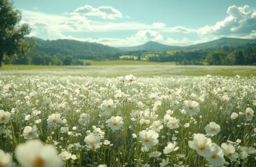
M 173 47 L 169 45 L 162 45 L 158 42 L 146 42 L 143 45 L 138 45 L 135 47 L 119 47 L 119 49 L 123 49 L 126 51 L 138 51 L 138 50 L 145 50 L 145 51 L 159 51 L 159 50 L 172 50 L 172 49 L 180 49 L 180 47 Z

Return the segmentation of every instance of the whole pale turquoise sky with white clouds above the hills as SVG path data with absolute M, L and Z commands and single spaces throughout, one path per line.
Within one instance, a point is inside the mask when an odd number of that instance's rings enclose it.
M 31 36 L 113 47 L 150 40 L 186 46 L 222 37 L 256 38 L 251 0 L 13 0 Z

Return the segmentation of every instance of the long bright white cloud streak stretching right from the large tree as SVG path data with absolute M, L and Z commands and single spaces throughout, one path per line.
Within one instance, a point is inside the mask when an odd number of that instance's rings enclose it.
M 89 9 L 87 9 L 89 10 Z M 79 32 L 106 32 L 106 31 L 141 31 L 147 29 L 162 33 L 194 33 L 196 30 L 181 26 L 167 27 L 164 23 L 144 24 L 141 22 L 106 22 L 105 20 L 92 21 L 82 15 L 50 15 L 37 11 L 22 10 L 22 22 L 31 26 L 38 38 L 57 39 L 68 33 Z M 157 25 L 157 26 L 156 26 Z M 56 35 L 55 35 L 56 33 Z M 148 37 L 154 35 L 148 32 Z M 157 38 L 162 38 L 158 35 Z

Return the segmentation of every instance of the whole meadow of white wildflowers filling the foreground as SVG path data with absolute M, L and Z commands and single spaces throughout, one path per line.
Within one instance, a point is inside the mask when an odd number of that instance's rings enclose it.
M 0 75 L 0 166 L 255 166 L 255 81 Z

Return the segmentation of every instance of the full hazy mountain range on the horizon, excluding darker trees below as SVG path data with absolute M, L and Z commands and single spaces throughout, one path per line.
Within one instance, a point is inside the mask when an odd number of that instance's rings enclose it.
M 109 59 L 119 58 L 127 54 L 127 51 L 195 51 L 200 49 L 218 49 L 223 47 L 243 47 L 245 45 L 256 45 L 256 40 L 239 38 L 220 38 L 210 42 L 204 42 L 187 47 L 162 45 L 159 42 L 147 42 L 134 47 L 109 47 L 95 42 L 80 42 L 78 40 L 42 40 L 34 38 L 36 45 L 31 49 L 32 54 L 43 54 L 48 56 L 71 56 L 77 59 Z

